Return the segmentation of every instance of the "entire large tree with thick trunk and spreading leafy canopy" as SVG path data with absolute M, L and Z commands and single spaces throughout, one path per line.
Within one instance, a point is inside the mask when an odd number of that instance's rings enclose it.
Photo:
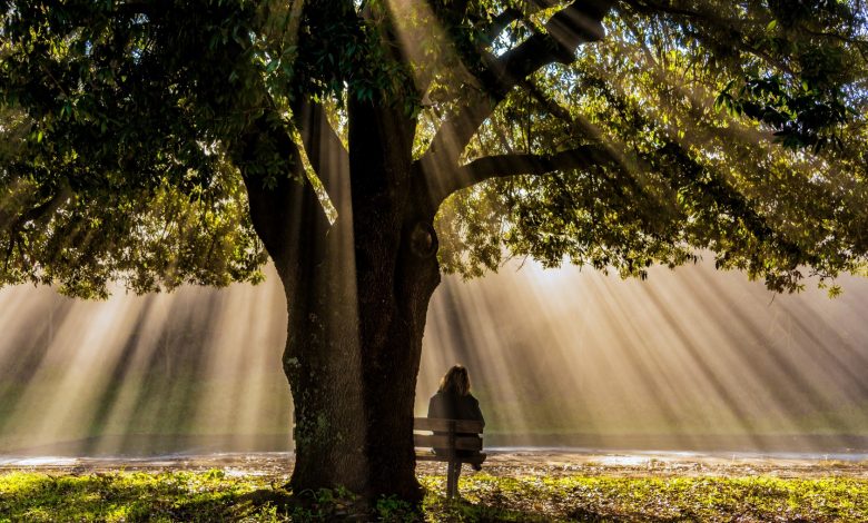
M 292 486 L 417 499 L 441 272 L 532 256 L 644 276 L 713 251 L 795 290 L 862 267 L 865 14 L 0 1 L 0 280 L 219 286 L 260 279 L 267 253 L 288 306 Z

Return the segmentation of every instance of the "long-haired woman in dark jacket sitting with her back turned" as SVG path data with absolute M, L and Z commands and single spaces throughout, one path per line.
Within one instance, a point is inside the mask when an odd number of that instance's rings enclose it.
M 431 397 L 428 403 L 428 417 L 438 417 L 445 420 L 470 420 L 474 422 L 482 422 L 485 424 L 485 420 L 482 417 L 482 411 L 480 411 L 480 402 L 473 397 L 470 392 L 470 376 L 467 369 L 461 365 L 455 365 L 448 371 L 440 381 L 440 388 L 437 393 Z M 437 433 L 435 433 L 437 434 Z M 456 434 L 458 436 L 475 436 L 476 434 Z M 447 454 L 447 448 L 434 448 L 436 454 Z M 473 456 L 479 454 L 475 451 L 455 451 L 457 456 Z M 474 464 L 473 468 L 482 470 L 482 465 Z M 457 482 L 457 475 L 461 474 L 461 464 L 455 470 L 455 481 Z

